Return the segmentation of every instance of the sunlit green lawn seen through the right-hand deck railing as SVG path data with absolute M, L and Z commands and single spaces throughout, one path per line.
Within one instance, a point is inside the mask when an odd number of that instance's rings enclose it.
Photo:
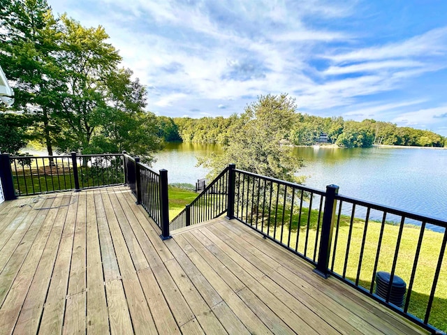
M 311 211 L 311 219 L 309 224 L 309 232 L 307 233 L 307 218 L 309 210 L 307 208 L 302 209 L 301 224 L 299 230 L 298 239 L 298 252 L 307 255 L 308 258 L 314 258 L 315 242 L 317 236 L 317 221 L 318 212 Z M 268 220 L 265 216 L 264 231 L 274 237 L 274 213 L 270 214 L 270 229 L 268 229 Z M 290 245 L 291 248 L 295 248 L 297 241 L 297 222 L 299 214 L 293 215 L 293 224 L 289 230 L 288 222 L 290 220 L 290 211 L 286 210 L 284 215 L 284 228 L 281 228 L 280 222 L 282 220 L 282 209 L 279 209 L 277 215 L 277 228 L 276 239 L 282 241 L 286 245 Z M 248 216 L 251 217 L 250 215 Z M 254 219 L 253 224 L 256 225 Z M 258 218 L 258 228 L 261 229 L 261 218 Z M 334 268 L 337 274 L 342 275 L 345 271 L 344 265 L 346 261 L 346 249 L 349 239 L 350 217 L 342 216 L 340 218 L 337 248 L 335 251 Z M 395 256 L 397 236 L 399 232 L 399 225 L 386 224 L 384 226 L 383 238 L 381 242 L 381 248 L 379 253 L 379 262 L 376 271 L 391 272 L 393 266 L 393 259 Z M 406 282 L 407 288 L 409 286 L 411 271 L 413 268 L 413 262 L 416 255 L 416 247 L 418 244 L 420 227 L 415 225 L 405 225 L 402 232 L 402 239 L 400 242 L 400 248 L 397 256 L 397 263 L 395 269 L 395 275 L 400 276 Z M 376 259 L 376 253 L 379 244 L 379 234 L 381 230 L 381 223 L 376 221 L 369 221 L 367 227 L 367 233 L 365 236 L 365 247 L 362 255 L 359 285 L 369 290 L 372 283 L 372 274 L 374 271 L 374 261 Z M 281 234 L 282 231 L 282 234 Z M 351 243 L 349 246 L 349 258 L 346 262 L 346 278 L 351 281 L 356 281 L 357 271 L 359 267 L 360 251 L 362 246 L 362 238 L 365 231 L 365 221 L 361 219 L 354 219 L 351 235 Z M 423 235 L 423 242 L 420 249 L 420 255 L 418 259 L 418 267 L 414 278 L 413 288 L 411 292 L 411 299 L 409 304 L 409 313 L 416 315 L 420 319 L 425 317 L 425 309 L 427 308 L 428 299 L 432 290 L 432 283 L 434 278 L 434 272 L 437 267 L 439 258 L 439 251 L 441 249 L 442 239 L 444 234 L 439 232 L 433 232 L 425 229 Z M 306 246 L 307 239 L 307 248 Z M 330 266 L 332 265 L 332 257 L 334 255 L 335 244 L 335 230 L 332 237 L 332 251 L 330 254 Z M 318 246 L 317 243 L 316 257 L 318 258 Z M 437 283 L 437 289 L 434 295 L 434 301 L 432 304 L 432 311 L 430 313 L 429 323 L 434 327 L 447 331 L 447 257 L 444 256 L 441 272 L 439 274 L 439 280 Z

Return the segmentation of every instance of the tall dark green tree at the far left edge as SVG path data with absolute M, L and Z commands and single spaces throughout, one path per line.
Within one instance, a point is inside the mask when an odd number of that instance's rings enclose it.
M 31 132 L 52 156 L 54 113 L 66 90 L 57 64 L 57 20 L 46 0 L 2 1 L 0 27 L 0 62 L 14 84 L 15 110 L 32 117 Z

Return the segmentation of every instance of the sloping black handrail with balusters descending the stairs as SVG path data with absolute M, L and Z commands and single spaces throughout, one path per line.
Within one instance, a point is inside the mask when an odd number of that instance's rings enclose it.
M 228 170 L 234 168 L 230 165 L 225 168 L 196 199 L 187 204 L 170 222 L 170 230 L 217 218 L 226 213 L 228 208 Z

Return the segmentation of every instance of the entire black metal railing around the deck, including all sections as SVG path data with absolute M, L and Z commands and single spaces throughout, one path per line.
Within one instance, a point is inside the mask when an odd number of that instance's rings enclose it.
M 431 332 L 447 329 L 446 220 L 348 198 L 334 185 L 318 191 L 232 164 L 169 223 L 167 171 L 155 172 L 125 153 L 73 153 L 52 161 L 2 154 L 0 178 L 6 200 L 15 193 L 126 182 L 162 239 L 226 213 L 311 262 L 316 274 L 348 283 Z

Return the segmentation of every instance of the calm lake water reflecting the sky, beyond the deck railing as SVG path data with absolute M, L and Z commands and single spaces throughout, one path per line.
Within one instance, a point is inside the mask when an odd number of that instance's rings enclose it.
M 305 185 L 324 190 L 339 186 L 339 194 L 418 214 L 447 219 L 447 150 L 422 148 L 297 147 L 304 158 Z M 169 143 L 156 155 L 154 168 L 168 170 L 169 183 L 194 184 L 207 170 L 197 168 L 197 156 L 219 152 L 217 144 Z

